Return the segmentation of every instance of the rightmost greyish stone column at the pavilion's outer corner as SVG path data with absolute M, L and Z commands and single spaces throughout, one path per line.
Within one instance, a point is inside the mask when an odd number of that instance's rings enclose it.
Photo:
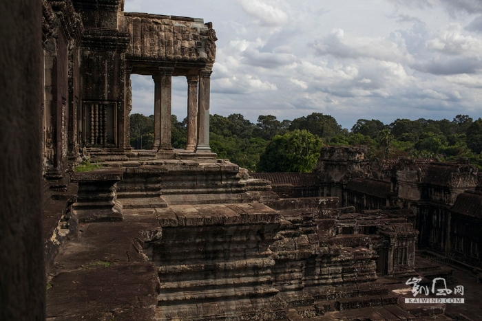
M 199 74 L 198 146 L 196 146 L 196 153 L 211 153 L 211 147 L 209 146 L 209 100 L 212 72 L 211 70 L 202 70 Z

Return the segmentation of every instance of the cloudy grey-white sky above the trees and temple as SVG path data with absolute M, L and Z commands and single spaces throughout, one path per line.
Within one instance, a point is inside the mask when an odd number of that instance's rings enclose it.
M 212 21 L 211 113 L 279 120 L 482 117 L 482 0 L 125 0 L 126 12 Z M 154 82 L 133 76 L 134 111 Z M 187 82 L 173 81 L 185 118 Z

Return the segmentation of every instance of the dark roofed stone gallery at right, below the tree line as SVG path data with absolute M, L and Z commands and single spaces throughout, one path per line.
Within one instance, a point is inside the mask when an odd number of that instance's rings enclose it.
M 379 208 L 409 209 L 419 230 L 418 245 L 441 256 L 482 267 L 477 232 L 481 176 L 467 159 L 375 159 L 363 147 L 322 148 L 316 174 L 322 196 L 336 196 L 357 212 Z

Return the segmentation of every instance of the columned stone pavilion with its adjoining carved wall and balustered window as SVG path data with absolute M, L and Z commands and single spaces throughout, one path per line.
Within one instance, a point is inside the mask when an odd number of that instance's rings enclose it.
M 215 157 L 209 147 L 211 23 L 127 13 L 124 1 L 43 1 L 44 170 L 56 178 L 80 161 L 138 157 L 129 145 L 132 74 L 155 84 L 154 151 L 149 158 Z M 60 23 L 60 27 L 59 27 Z M 187 147 L 171 146 L 171 78 L 187 79 Z

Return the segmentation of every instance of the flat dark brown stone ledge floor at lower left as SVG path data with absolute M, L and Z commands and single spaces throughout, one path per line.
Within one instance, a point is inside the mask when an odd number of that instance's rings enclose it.
M 67 241 L 52 269 L 47 320 L 154 320 L 158 274 L 135 240 L 153 239 L 156 226 L 154 210 L 79 225 L 78 238 Z

